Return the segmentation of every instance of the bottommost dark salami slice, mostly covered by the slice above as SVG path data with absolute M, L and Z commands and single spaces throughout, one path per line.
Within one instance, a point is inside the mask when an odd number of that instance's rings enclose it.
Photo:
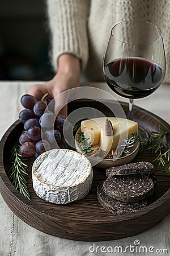
M 103 183 L 100 183 L 97 186 L 97 199 L 104 208 L 108 209 L 115 216 L 136 212 L 147 205 L 146 200 L 135 203 L 124 203 L 122 201 L 118 201 L 104 192 Z

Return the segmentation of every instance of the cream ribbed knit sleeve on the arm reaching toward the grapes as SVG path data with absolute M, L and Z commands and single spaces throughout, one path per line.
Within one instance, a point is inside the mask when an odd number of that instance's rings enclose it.
M 81 61 L 82 70 L 88 60 L 88 0 L 48 0 L 49 25 L 52 36 L 52 64 L 57 69 L 58 56 L 71 53 Z

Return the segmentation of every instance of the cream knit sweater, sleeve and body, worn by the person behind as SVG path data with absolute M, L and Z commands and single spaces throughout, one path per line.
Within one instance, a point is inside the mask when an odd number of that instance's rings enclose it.
M 52 32 L 53 65 L 62 53 L 80 58 L 88 81 L 103 81 L 102 60 L 114 24 L 143 19 L 157 24 L 163 32 L 170 82 L 169 0 L 48 0 Z

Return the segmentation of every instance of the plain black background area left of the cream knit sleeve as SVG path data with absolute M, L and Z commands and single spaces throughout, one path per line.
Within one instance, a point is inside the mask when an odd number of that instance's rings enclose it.
M 45 0 L 0 0 L 0 80 L 49 80 Z

